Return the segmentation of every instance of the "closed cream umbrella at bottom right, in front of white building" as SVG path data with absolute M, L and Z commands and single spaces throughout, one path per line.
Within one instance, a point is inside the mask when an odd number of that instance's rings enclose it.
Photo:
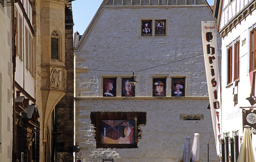
M 252 149 L 251 133 L 250 133 L 249 127 L 244 128 L 244 136 L 242 139 L 237 162 L 255 162 L 253 149 Z

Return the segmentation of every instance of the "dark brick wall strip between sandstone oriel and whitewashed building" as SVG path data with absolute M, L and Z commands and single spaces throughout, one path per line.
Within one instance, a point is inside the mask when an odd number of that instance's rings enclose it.
M 74 146 L 74 50 L 73 26 L 65 27 L 65 67 L 67 94 L 57 107 L 57 158 L 58 162 L 73 161 Z

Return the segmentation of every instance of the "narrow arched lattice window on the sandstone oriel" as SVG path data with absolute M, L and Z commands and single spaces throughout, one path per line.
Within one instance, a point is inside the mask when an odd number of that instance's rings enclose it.
M 53 30 L 51 34 L 51 59 L 59 60 L 59 40 L 59 33 Z

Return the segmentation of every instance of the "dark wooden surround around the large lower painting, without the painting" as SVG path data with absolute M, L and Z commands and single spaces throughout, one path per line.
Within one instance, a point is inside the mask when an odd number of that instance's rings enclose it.
M 146 112 L 91 112 L 91 124 L 95 127 L 96 148 L 138 148 L 138 125 L 146 124 Z M 101 120 L 135 120 L 134 144 L 102 144 Z

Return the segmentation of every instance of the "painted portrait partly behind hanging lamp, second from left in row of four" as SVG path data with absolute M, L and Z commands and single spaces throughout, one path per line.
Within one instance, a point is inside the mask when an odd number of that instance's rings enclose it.
M 132 86 L 131 78 L 122 78 L 122 97 L 135 97 L 135 86 Z

